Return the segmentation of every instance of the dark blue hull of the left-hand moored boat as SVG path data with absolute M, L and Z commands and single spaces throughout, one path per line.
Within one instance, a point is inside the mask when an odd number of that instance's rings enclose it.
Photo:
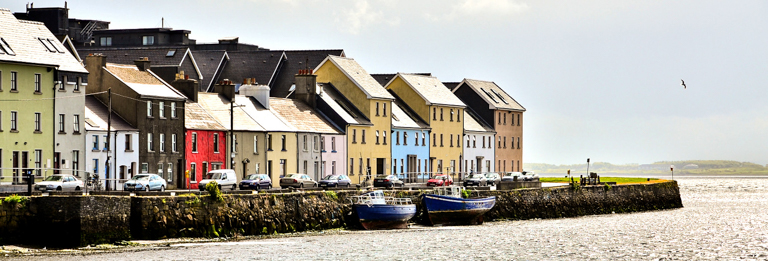
M 416 205 L 354 205 L 360 224 L 368 230 L 407 228 Z

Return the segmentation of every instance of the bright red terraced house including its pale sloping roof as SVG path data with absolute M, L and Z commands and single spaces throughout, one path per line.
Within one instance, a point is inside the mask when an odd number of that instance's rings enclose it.
M 197 189 L 208 171 L 226 166 L 227 129 L 195 102 L 187 102 L 185 109 L 186 188 Z

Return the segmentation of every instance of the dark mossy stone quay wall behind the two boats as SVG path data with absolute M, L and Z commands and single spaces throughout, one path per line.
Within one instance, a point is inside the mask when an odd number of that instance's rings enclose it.
M 397 190 L 419 209 L 427 191 Z M 73 247 L 130 239 L 220 237 L 354 228 L 349 196 L 360 191 L 177 196 L 45 196 L 4 200 L 0 243 Z M 509 191 L 471 191 L 496 196 L 485 220 L 559 218 L 682 207 L 675 181 Z M 18 202 L 17 202 L 18 201 Z

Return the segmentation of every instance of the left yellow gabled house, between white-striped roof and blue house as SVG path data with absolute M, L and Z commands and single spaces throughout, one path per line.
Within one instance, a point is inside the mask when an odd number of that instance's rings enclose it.
M 354 59 L 328 56 L 315 68 L 318 83 L 331 83 L 368 119 L 370 126 L 349 125 L 347 164 L 350 173 L 377 175 L 390 173 L 392 152 L 389 143 L 392 127 L 392 101 L 395 99 Z M 352 178 L 357 182 L 359 179 Z

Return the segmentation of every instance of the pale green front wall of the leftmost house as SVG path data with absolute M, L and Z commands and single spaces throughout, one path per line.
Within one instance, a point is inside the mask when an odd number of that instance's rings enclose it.
M 11 91 L 11 72 L 17 73 L 17 91 Z M 52 167 L 55 135 L 54 101 L 51 99 L 54 97 L 53 72 L 45 67 L 0 63 L 0 99 L 5 100 L 0 102 L 0 184 L 13 182 L 14 171 L 11 168 L 14 151 L 19 152 L 19 167 L 23 166 L 22 152 L 27 152 L 27 167 L 35 167 L 35 150 L 42 153 L 41 168 Z M 35 74 L 40 74 L 40 92 L 37 93 Z M 11 130 L 12 111 L 17 112 L 15 131 Z M 35 113 L 40 113 L 40 131 L 35 131 Z M 67 127 L 72 131 L 72 125 Z M 82 125 L 80 128 L 85 131 Z M 53 172 L 41 169 L 39 174 L 36 180 Z

